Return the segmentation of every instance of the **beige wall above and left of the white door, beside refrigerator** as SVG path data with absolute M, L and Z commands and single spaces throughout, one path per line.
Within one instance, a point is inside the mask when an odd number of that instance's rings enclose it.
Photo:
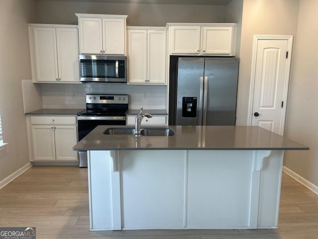
M 253 36 L 296 36 L 298 6 L 299 0 L 244 0 L 239 54 L 238 125 L 247 124 Z

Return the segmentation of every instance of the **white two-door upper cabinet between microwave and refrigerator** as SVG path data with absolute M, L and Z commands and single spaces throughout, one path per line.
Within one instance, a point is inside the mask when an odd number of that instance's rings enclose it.
M 128 27 L 129 84 L 165 84 L 166 29 Z

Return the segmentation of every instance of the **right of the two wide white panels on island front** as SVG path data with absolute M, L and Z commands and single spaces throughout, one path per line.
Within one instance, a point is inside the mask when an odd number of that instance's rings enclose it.
M 248 228 L 252 151 L 188 152 L 187 227 Z

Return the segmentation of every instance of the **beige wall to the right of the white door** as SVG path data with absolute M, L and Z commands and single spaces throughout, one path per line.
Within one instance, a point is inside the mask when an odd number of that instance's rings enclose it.
M 284 166 L 318 186 L 318 0 L 300 0 L 285 135 L 310 147 L 286 151 Z

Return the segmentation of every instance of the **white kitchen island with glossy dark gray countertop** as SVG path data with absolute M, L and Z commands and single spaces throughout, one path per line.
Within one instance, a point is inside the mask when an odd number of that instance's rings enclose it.
M 257 126 L 107 128 L 74 146 L 88 150 L 92 231 L 277 228 L 284 150 L 309 149 Z

